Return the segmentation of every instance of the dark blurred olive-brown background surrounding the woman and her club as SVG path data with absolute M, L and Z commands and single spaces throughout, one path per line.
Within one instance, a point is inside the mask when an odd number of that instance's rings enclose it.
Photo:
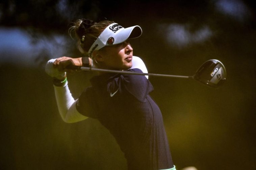
M 62 122 L 47 60 L 80 57 L 68 36 L 79 18 L 139 25 L 131 42 L 150 73 L 193 75 L 220 60 L 227 81 L 219 89 L 194 80 L 150 77 L 177 169 L 256 169 L 255 3 L 196 1 L 0 2 L 1 169 L 126 169 L 123 153 L 97 120 Z M 8 32 L 10 31 L 10 32 Z M 20 38 L 20 35 L 28 37 Z M 69 74 L 74 98 L 91 72 Z

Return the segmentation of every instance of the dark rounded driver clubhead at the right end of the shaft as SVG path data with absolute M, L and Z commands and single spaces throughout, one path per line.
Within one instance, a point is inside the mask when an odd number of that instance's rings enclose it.
M 217 88 L 226 80 L 227 73 L 219 60 L 208 60 L 196 71 L 193 78 L 207 86 Z

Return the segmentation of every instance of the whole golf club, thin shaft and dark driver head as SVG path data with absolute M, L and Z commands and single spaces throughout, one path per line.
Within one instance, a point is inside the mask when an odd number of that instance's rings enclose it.
M 83 70 L 83 71 L 99 71 L 99 72 L 119 73 L 119 74 L 188 78 L 188 79 L 195 79 L 203 84 L 206 84 L 207 86 L 214 87 L 214 88 L 217 88 L 221 84 L 223 84 L 227 77 L 227 73 L 224 65 L 219 60 L 214 60 L 214 59 L 204 62 L 193 76 L 154 74 L 154 73 L 136 73 L 136 72 L 130 72 L 130 71 L 106 70 L 106 69 L 81 67 L 81 66 L 69 66 L 68 68 L 75 69 L 75 70 Z

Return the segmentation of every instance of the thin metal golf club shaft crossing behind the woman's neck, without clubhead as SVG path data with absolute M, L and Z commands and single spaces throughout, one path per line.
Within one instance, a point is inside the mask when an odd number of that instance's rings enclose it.
M 80 66 L 70 66 L 69 68 L 70 69 L 75 69 L 75 70 L 83 70 L 83 71 L 99 71 L 99 72 L 119 73 L 119 74 L 148 75 L 148 76 L 174 77 L 174 78 L 193 78 L 193 76 L 153 74 L 153 73 L 137 73 L 137 72 L 131 72 L 131 71 L 107 70 L 107 69 L 80 67 Z

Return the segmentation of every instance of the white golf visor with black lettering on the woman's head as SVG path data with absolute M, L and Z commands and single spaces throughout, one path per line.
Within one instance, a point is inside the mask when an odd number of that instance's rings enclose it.
M 117 23 L 110 24 L 94 41 L 88 51 L 89 57 L 95 50 L 99 50 L 106 45 L 119 44 L 126 41 L 128 38 L 137 38 L 142 34 L 142 29 L 139 26 L 124 28 Z

